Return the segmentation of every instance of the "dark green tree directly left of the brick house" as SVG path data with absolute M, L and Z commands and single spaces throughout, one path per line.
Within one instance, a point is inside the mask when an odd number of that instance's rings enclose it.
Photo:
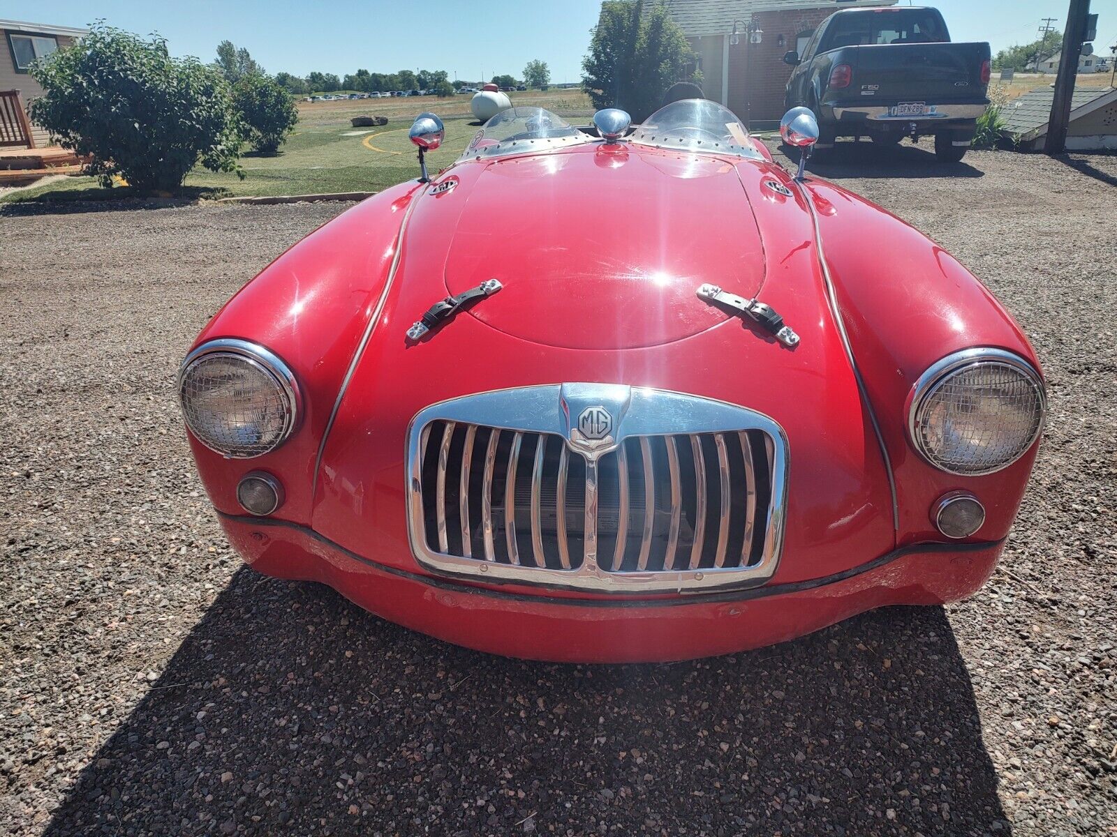
M 686 71 L 693 58 L 665 7 L 656 4 L 645 15 L 643 0 L 605 0 L 582 59 L 582 87 L 594 107 L 621 107 L 640 122 L 675 81 L 696 80 Z

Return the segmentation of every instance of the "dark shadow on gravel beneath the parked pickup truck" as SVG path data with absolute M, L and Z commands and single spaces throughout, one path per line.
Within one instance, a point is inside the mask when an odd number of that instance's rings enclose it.
M 793 164 L 799 164 L 799 151 L 780 145 L 780 151 Z M 930 146 L 880 145 L 871 141 L 839 141 L 824 156 L 812 156 L 806 171 L 827 180 L 843 177 L 984 177 L 985 173 L 965 161 L 939 163 Z

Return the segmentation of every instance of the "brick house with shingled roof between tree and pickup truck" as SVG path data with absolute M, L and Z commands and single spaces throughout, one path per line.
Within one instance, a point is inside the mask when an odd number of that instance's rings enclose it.
M 783 116 L 783 93 L 792 70 L 783 62 L 784 52 L 801 48 L 814 28 L 839 9 L 894 6 L 896 0 L 658 2 L 667 7 L 695 50 L 706 98 L 720 102 L 746 125 L 765 128 Z M 761 30 L 760 44 L 750 37 L 753 29 Z

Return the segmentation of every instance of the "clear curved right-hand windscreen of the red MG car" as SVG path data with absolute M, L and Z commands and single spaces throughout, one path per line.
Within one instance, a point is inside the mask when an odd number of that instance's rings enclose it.
M 741 119 L 709 99 L 684 99 L 659 108 L 637 127 L 631 141 L 663 148 L 761 158 Z

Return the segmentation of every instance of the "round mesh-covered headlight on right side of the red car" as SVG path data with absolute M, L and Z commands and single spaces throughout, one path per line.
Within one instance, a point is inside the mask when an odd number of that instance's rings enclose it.
M 919 378 L 911 400 L 911 443 L 936 468 L 977 475 L 1008 468 L 1043 427 L 1039 374 L 1001 349 L 944 357 Z

